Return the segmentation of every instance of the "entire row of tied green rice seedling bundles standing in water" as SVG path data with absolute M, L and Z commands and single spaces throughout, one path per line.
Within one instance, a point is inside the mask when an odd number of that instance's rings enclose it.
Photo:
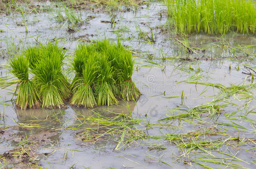
M 48 42 L 27 47 L 11 58 L 10 72 L 18 79 L 16 106 L 60 108 L 68 102 L 73 106 L 109 106 L 141 95 L 132 81 L 131 51 L 120 42 L 105 39 L 79 44 L 68 68 L 75 74 L 71 83 L 63 66 L 66 56 L 57 42 Z

